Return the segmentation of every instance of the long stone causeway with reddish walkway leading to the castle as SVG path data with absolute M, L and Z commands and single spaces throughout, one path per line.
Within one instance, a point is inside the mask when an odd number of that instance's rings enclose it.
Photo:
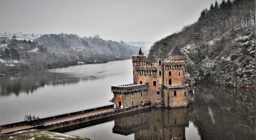
M 134 105 L 125 107 L 123 109 L 114 109 L 114 104 L 108 104 L 98 107 L 91 107 L 89 109 L 71 111 L 61 114 L 55 114 L 51 116 L 28 119 L 13 124 L 1 125 L 1 134 L 9 134 L 17 131 L 27 129 L 38 129 L 45 131 L 52 131 L 60 128 L 65 128 L 80 123 L 86 123 L 90 121 L 100 120 L 119 114 L 124 114 L 144 108 L 151 107 L 151 103 L 145 103 L 144 105 Z

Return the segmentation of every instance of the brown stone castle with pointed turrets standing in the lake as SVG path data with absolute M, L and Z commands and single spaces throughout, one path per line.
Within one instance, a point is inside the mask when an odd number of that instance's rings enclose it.
M 133 84 L 111 86 L 112 102 L 117 107 L 129 107 L 151 103 L 158 107 L 183 107 L 193 102 L 194 91 L 185 83 L 184 54 L 176 44 L 163 59 L 160 53 L 156 62 L 147 62 L 140 48 L 138 56 L 132 56 Z

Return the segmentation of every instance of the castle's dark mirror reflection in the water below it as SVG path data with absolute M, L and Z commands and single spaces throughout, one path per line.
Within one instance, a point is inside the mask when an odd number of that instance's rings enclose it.
M 185 139 L 188 127 L 188 107 L 166 109 L 150 108 L 127 114 L 115 120 L 113 133 L 130 135 L 135 140 Z

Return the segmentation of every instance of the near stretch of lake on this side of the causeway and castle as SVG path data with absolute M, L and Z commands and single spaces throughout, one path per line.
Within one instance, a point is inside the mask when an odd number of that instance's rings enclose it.
M 189 107 L 150 108 L 122 114 L 102 122 L 114 121 L 113 126 L 98 127 L 97 131 L 109 131 L 104 137 L 120 139 L 117 135 L 133 136 L 135 140 L 147 139 L 255 139 L 255 89 L 234 89 L 216 85 L 195 86 L 196 101 Z M 99 121 L 92 123 L 100 124 Z M 85 123 L 86 124 L 86 123 Z M 79 129 L 88 127 L 80 126 Z M 62 132 L 74 131 L 64 128 Z M 86 138 L 98 139 L 90 134 L 93 128 L 70 132 Z M 98 134 L 100 135 L 100 134 Z M 112 135 L 115 135 L 113 137 Z M 100 137 L 100 136 L 99 136 Z M 123 137 L 122 137 L 123 138 Z

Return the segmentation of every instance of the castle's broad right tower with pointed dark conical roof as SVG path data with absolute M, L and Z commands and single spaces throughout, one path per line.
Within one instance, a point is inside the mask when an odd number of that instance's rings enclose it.
M 188 106 L 188 85 L 185 84 L 184 54 L 175 44 L 169 53 L 169 60 L 164 62 L 164 106 L 180 107 Z

